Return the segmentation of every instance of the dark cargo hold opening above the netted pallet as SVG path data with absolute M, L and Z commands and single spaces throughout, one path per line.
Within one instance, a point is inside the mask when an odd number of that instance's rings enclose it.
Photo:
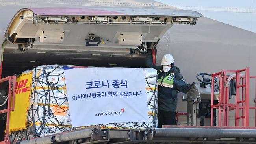
M 40 65 L 76 65 L 96 67 L 145 67 L 146 53 L 132 54 L 130 49 L 111 50 L 110 48 L 82 48 L 63 46 L 37 46 L 21 50 L 18 44 L 7 41 L 2 46 L 2 78 L 21 74 Z

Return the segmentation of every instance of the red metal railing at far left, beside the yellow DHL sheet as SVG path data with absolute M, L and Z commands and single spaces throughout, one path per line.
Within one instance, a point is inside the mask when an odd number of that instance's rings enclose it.
M 6 78 L 0 79 L 0 83 L 4 81 L 9 81 L 9 91 L 8 91 L 8 102 L 7 109 L 0 110 L 1 113 L 7 113 L 6 120 L 6 135 L 4 137 L 4 141 L 0 142 L 0 144 L 10 144 L 9 140 L 9 122 L 10 122 L 10 113 L 14 110 L 14 102 L 15 102 L 15 87 L 16 87 L 16 76 L 8 76 Z M 11 85 L 13 84 L 13 85 Z M 11 96 L 12 96 L 12 105 L 11 105 Z

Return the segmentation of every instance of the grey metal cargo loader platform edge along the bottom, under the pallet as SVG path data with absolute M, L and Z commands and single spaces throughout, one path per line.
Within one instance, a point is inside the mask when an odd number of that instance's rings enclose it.
M 255 127 L 164 126 L 101 129 L 100 126 L 24 140 L 20 144 L 256 143 Z

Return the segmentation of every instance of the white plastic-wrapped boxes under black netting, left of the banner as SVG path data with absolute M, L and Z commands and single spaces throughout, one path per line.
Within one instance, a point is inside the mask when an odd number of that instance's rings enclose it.
M 31 98 L 32 120 L 35 133 L 40 136 L 70 130 L 71 122 L 63 67 L 38 66 L 32 71 Z

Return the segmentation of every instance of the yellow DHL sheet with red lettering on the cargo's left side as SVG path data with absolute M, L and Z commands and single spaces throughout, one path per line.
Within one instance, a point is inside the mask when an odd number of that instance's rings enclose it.
M 15 106 L 10 114 L 10 131 L 26 129 L 31 80 L 32 72 L 22 74 L 16 79 Z

